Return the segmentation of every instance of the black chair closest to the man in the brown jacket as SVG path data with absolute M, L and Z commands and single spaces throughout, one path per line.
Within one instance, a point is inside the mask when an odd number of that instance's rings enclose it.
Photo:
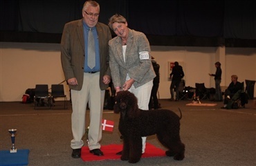
M 53 100 L 53 106 L 56 106 L 55 98 L 64 98 L 64 109 L 67 109 L 67 98 L 64 93 L 63 84 L 51 85 L 51 98 Z

